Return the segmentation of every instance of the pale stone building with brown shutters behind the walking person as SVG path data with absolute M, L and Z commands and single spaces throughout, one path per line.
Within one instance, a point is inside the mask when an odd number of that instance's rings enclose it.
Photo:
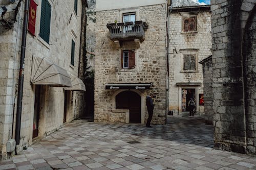
M 188 101 L 204 115 L 203 72 L 199 61 L 211 55 L 210 6 L 173 0 L 169 8 L 168 110 L 188 115 Z

